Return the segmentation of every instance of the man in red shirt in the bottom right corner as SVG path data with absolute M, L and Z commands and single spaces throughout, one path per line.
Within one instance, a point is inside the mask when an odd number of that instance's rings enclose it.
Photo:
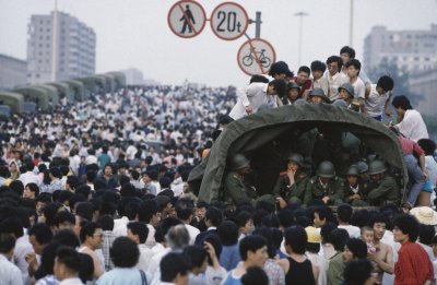
M 434 280 L 433 263 L 418 244 L 420 223 L 414 216 L 401 215 L 394 221 L 393 238 L 400 242 L 394 264 L 394 285 L 428 285 Z

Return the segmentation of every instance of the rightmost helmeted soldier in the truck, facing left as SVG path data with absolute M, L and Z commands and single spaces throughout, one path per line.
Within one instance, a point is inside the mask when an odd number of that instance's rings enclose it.
M 401 199 L 399 186 L 393 177 L 386 175 L 386 164 L 382 161 L 375 159 L 369 164 L 368 175 L 370 176 L 370 181 L 367 199 L 370 205 L 399 205 Z

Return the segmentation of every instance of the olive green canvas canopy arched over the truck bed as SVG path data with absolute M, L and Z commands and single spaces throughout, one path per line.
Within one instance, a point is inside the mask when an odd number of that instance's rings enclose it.
M 206 202 L 218 200 L 228 157 L 237 153 L 262 152 L 263 146 L 284 133 L 314 128 L 353 133 L 389 165 L 401 169 L 405 188 L 406 166 L 401 144 L 394 133 L 367 116 L 328 104 L 287 105 L 258 111 L 229 123 L 209 155 L 192 169 L 188 181 L 190 185 L 201 181 L 199 199 Z

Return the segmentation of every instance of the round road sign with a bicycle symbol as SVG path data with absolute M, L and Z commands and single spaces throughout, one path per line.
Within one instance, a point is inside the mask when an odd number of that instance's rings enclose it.
M 239 68 L 248 75 L 265 74 L 276 61 L 273 46 L 262 39 L 252 38 L 245 41 L 238 50 L 237 61 Z

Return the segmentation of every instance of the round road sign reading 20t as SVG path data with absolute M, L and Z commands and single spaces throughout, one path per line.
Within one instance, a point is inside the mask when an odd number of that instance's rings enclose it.
M 234 40 L 246 33 L 249 26 L 249 16 L 246 10 L 237 3 L 224 2 L 211 13 L 212 32 L 225 40 Z

